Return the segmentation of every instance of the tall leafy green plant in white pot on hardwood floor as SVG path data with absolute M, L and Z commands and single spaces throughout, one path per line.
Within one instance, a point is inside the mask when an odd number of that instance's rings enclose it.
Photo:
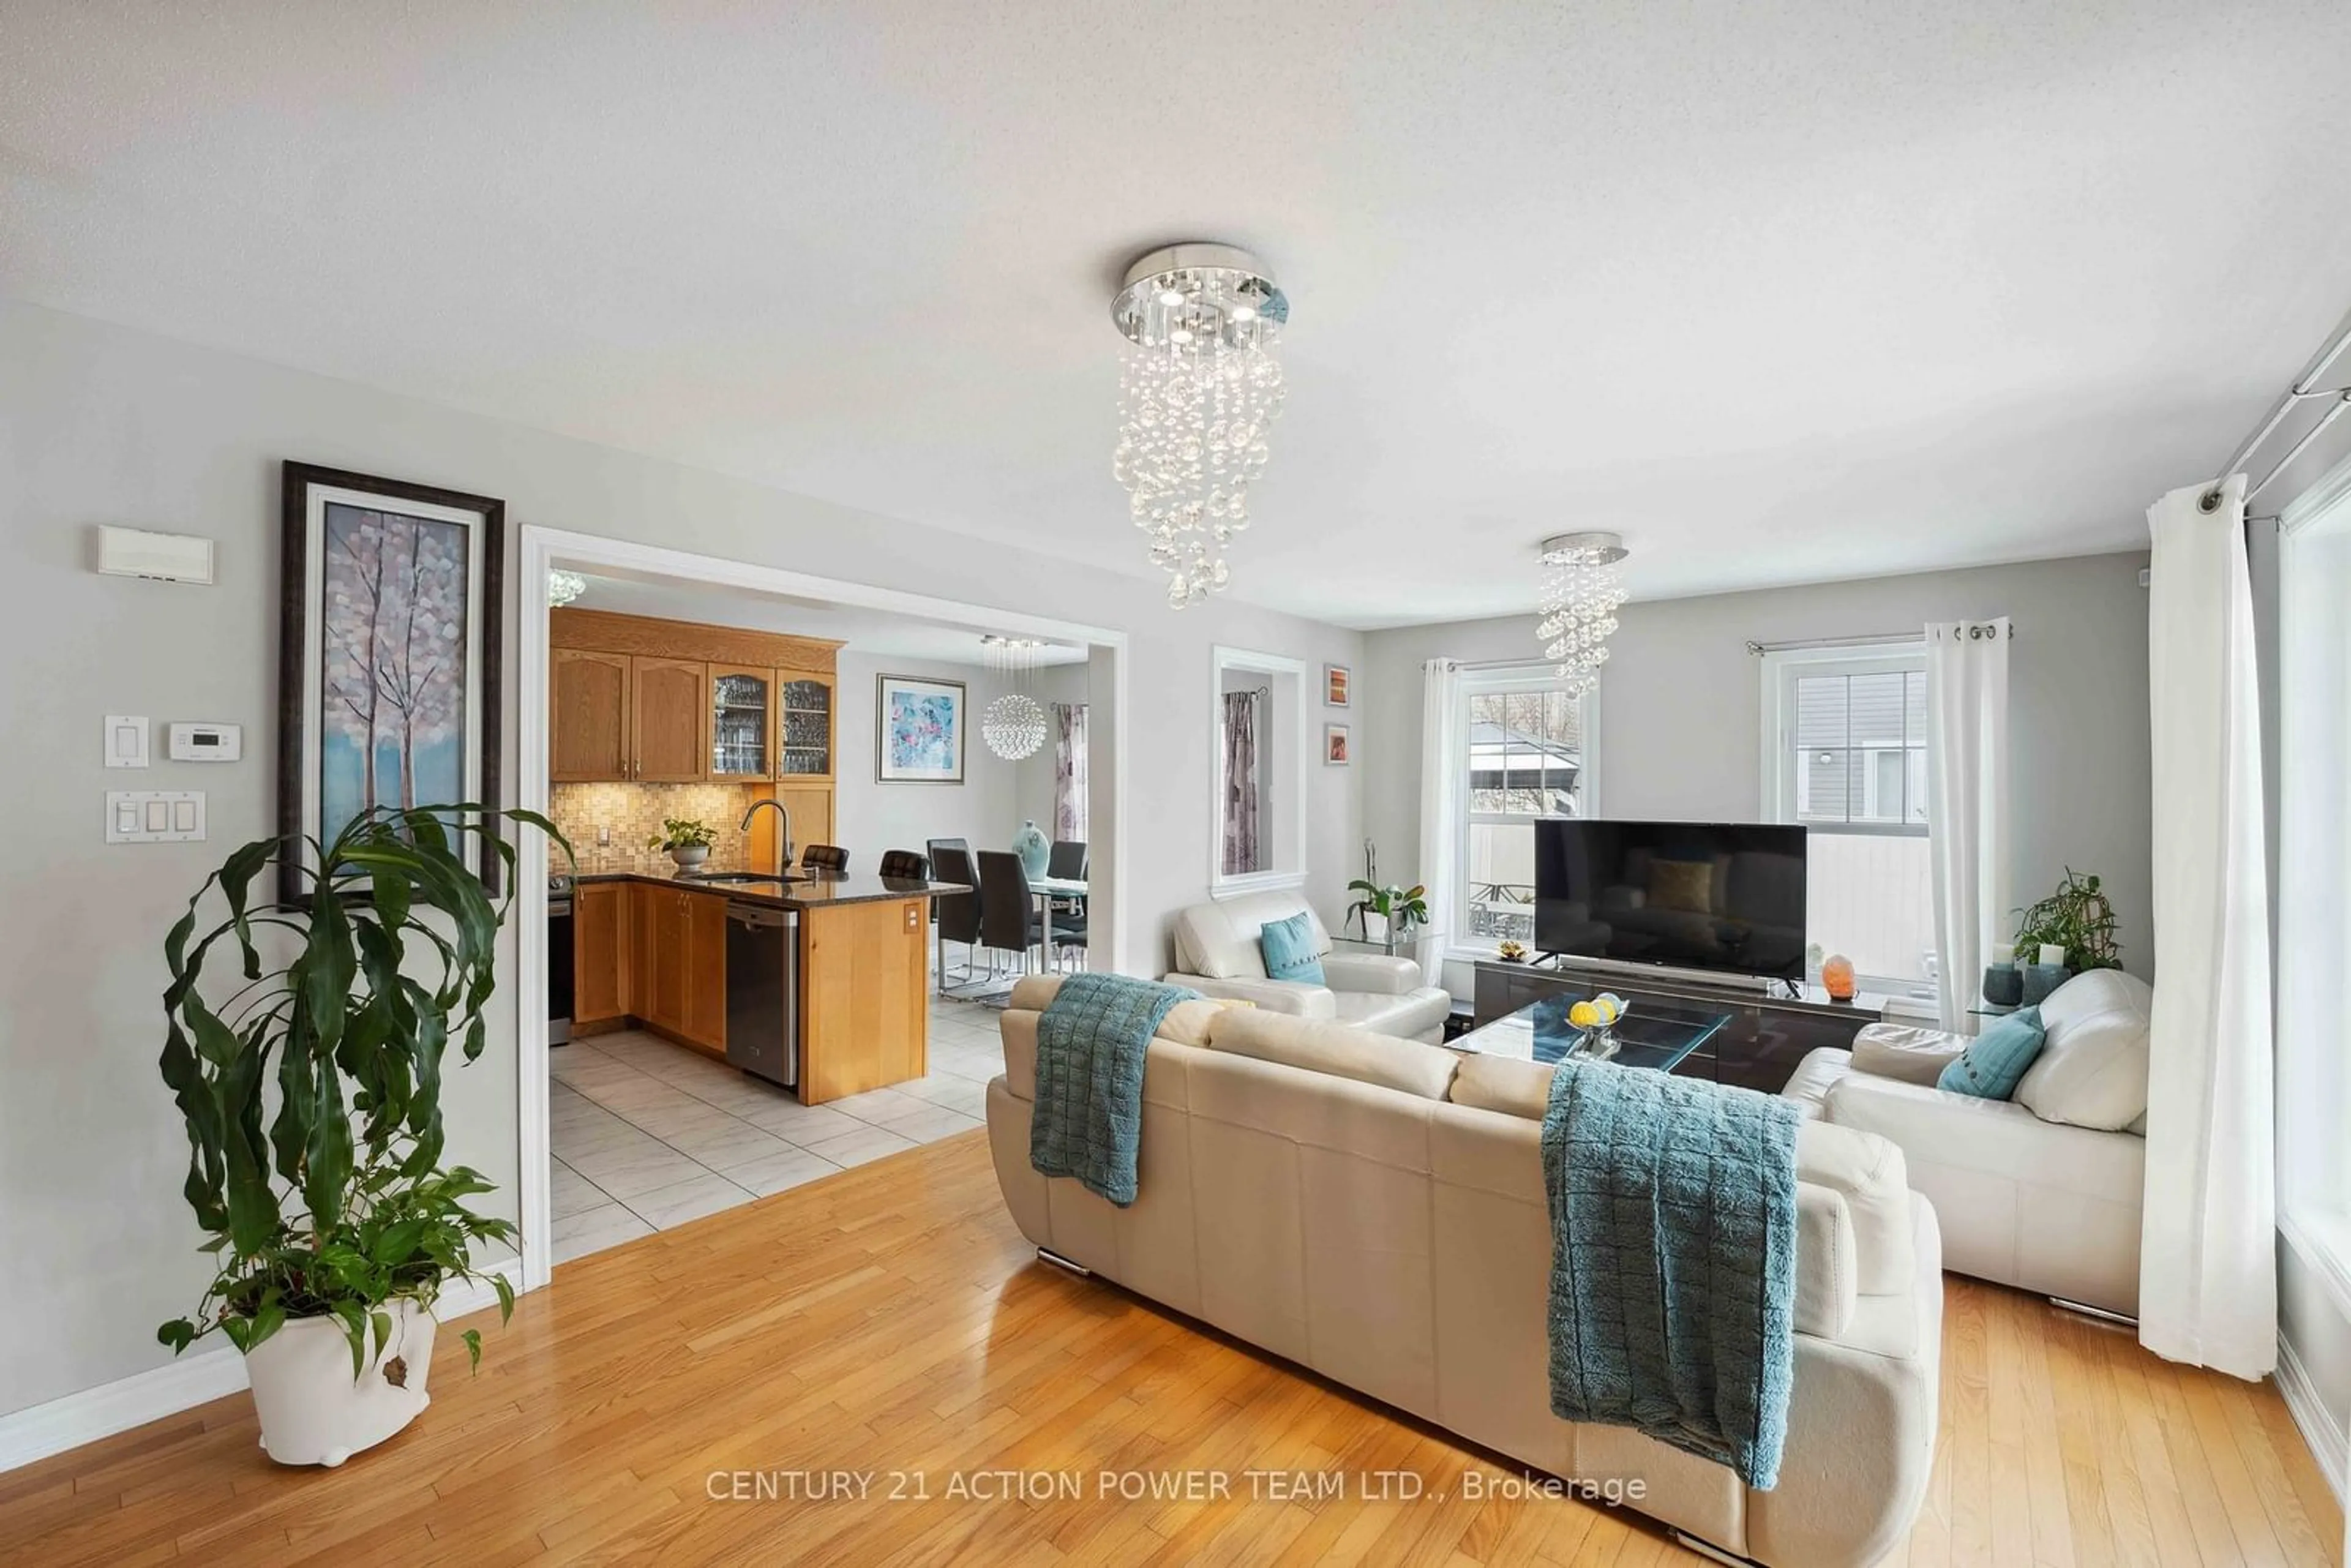
M 571 846 L 543 816 L 374 806 L 331 842 L 287 835 L 233 853 L 165 940 L 162 1079 L 188 1124 L 188 1182 L 216 1272 L 174 1352 L 219 1328 L 245 1352 L 261 1446 L 284 1465 L 341 1465 L 426 1406 L 433 1302 L 487 1279 L 475 1260 L 515 1227 L 468 1199 L 491 1182 L 442 1166 L 442 1058 L 482 1056 L 498 926 L 465 863 L 470 839 L 513 886 L 498 816 Z M 273 863 L 301 865 L 299 903 L 252 905 Z M 230 945 L 242 985 L 207 959 Z M 268 957 L 263 957 L 268 954 Z M 228 994 L 221 994 L 228 992 Z M 480 1331 L 465 1331 L 473 1363 Z

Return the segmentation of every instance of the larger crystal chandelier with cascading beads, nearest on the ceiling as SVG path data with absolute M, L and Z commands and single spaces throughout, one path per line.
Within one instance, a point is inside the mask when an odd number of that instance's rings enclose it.
M 1128 341 L 1112 473 L 1185 609 L 1232 581 L 1225 545 L 1248 527 L 1281 414 L 1272 350 L 1291 301 L 1248 252 L 1168 244 L 1126 268 L 1110 320 Z

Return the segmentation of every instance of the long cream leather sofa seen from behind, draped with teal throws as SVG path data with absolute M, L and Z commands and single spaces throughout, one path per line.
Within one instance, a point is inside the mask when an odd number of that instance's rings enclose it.
M 1549 1070 L 1328 1020 L 1185 1001 L 1143 1072 L 1140 1194 L 1030 1166 L 1037 1013 L 1013 987 L 987 1140 L 1034 1246 L 1761 1563 L 1860 1568 L 1907 1535 L 1935 1453 L 1942 1244 L 1881 1138 L 1806 1124 L 1796 1378 L 1780 1483 L 1552 1415 Z

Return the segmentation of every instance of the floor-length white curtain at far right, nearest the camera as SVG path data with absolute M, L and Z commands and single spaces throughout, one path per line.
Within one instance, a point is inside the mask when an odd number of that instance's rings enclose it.
M 2139 1342 L 2262 1378 L 2278 1359 L 2262 708 L 2245 480 L 2146 508 L 2156 1001 Z

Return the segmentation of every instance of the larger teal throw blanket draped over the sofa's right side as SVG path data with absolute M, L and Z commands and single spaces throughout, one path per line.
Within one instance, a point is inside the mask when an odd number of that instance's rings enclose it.
M 1796 1375 L 1796 1107 L 1561 1063 L 1542 1117 L 1552 1413 L 1780 1481 Z

